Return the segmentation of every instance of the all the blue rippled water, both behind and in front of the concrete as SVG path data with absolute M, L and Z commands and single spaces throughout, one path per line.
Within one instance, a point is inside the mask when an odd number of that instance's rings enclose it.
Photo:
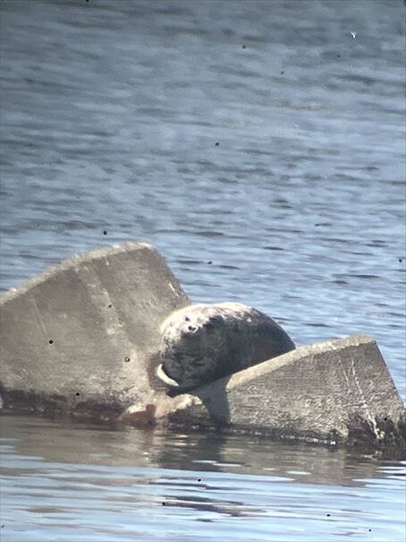
M 194 302 L 254 305 L 297 344 L 373 336 L 406 397 L 401 1 L 3 0 L 0 15 L 1 288 L 147 240 Z M 404 539 L 399 462 L 2 428 L 2 542 Z

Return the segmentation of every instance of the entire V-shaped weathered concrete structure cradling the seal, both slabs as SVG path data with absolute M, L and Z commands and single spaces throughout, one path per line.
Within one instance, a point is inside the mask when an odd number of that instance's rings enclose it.
M 189 304 L 145 243 L 74 256 L 13 288 L 0 299 L 5 408 L 406 451 L 404 405 L 365 336 L 300 347 L 166 395 L 154 377 L 160 325 Z

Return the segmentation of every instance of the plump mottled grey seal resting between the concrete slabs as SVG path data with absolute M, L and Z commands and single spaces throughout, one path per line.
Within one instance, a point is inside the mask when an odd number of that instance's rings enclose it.
M 294 348 L 283 328 L 253 307 L 189 305 L 161 326 L 156 375 L 177 395 Z

